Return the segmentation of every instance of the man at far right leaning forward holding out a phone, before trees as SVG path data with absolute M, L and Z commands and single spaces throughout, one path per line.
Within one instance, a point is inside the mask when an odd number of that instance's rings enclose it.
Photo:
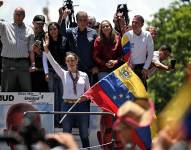
M 148 77 L 152 76 L 158 69 L 164 71 L 170 71 L 175 69 L 175 60 L 171 60 L 171 64 L 165 65 L 162 63 L 170 56 L 171 48 L 167 45 L 162 45 L 158 51 L 154 51 L 152 63 L 148 71 Z

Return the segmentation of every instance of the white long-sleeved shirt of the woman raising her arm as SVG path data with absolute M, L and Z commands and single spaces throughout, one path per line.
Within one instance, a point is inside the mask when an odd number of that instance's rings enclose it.
M 78 99 L 84 94 L 85 91 L 87 91 L 87 89 L 90 87 L 90 83 L 88 75 L 85 72 L 79 71 L 79 79 L 76 85 L 77 95 L 75 95 L 73 91 L 73 81 L 70 77 L 69 72 L 60 67 L 60 65 L 54 60 L 50 52 L 48 52 L 48 54 L 45 52 L 43 53 L 47 56 L 55 72 L 62 80 L 63 99 Z

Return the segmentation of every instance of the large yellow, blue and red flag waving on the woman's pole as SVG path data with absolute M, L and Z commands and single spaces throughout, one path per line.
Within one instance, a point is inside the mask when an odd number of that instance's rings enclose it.
M 102 109 L 116 114 L 126 100 L 146 97 L 147 92 L 139 77 L 125 63 L 93 85 L 83 95 Z

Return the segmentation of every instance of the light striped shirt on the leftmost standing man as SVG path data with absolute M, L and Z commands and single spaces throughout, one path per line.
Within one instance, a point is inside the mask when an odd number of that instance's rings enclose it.
M 34 32 L 32 28 L 23 24 L 17 26 L 15 23 L 0 21 L 0 36 L 3 43 L 2 57 L 27 58 L 34 43 Z

